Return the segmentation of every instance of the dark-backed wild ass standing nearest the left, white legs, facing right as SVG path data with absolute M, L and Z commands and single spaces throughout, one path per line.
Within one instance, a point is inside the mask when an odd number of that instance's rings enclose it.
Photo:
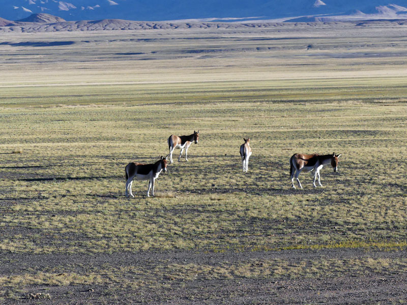
M 158 178 L 158 175 L 164 170 L 167 171 L 167 160 L 168 156 L 165 158 L 161 156 L 154 164 L 141 164 L 136 162 L 130 162 L 126 165 L 126 197 L 129 197 L 128 190 L 130 191 L 130 196 L 133 196 L 131 192 L 131 185 L 133 184 L 133 179 L 138 180 L 150 180 L 149 189 L 147 190 L 147 197 L 150 197 L 150 189 L 153 187 L 153 197 L 154 197 L 154 181 Z

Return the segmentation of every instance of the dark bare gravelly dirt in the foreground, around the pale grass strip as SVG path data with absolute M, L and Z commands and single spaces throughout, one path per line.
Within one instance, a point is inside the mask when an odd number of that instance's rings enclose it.
M 61 268 L 77 266 L 79 273 L 90 272 L 102 265 L 112 268 L 137 268 L 145 266 L 150 275 L 125 272 L 124 278 L 133 281 L 147 279 L 149 285 L 120 287 L 120 285 L 69 285 L 27 287 L 37 293 L 49 293 L 52 304 L 392 304 L 407 301 L 407 273 L 382 272 L 366 268 L 363 275 L 352 269 L 329 273 L 318 278 L 301 277 L 236 277 L 211 278 L 210 274 L 199 274 L 193 279 L 173 278 L 171 275 L 157 276 L 153 270 L 167 265 L 224 265 L 225 262 L 247 263 L 253 266 L 264 260 L 285 260 L 289 265 L 301 262 L 311 264 L 321 259 L 390 259 L 406 256 L 406 251 L 363 251 L 334 249 L 324 251 L 290 250 L 278 252 L 205 253 L 194 252 L 140 252 L 97 255 L 33 255 L 8 254 L 1 258 L 0 273 L 22 272 L 32 268 Z M 261 264 L 261 263 L 259 263 Z M 72 268 L 71 268 L 72 270 Z M 208 280 L 208 278 L 210 278 Z M 21 291 L 22 295 L 26 292 Z M 41 303 L 41 300 L 8 299 L 4 304 Z

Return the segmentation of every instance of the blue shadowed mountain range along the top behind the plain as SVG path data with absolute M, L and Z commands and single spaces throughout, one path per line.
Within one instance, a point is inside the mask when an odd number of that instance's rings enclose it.
M 339 21 L 407 18 L 407 0 L 0 0 L 0 16 L 46 13 L 72 20 Z M 2 21 L 0 19 L 0 26 Z

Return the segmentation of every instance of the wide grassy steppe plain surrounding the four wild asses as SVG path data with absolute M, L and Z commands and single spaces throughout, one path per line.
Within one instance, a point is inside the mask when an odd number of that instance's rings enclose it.
M 2 33 L 0 303 L 406 302 L 406 31 Z M 124 197 L 193 130 L 156 198 Z M 290 156 L 333 151 L 291 188 Z

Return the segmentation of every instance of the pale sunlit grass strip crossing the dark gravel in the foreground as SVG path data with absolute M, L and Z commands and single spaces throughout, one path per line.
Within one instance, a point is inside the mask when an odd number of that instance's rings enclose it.
M 62 268 L 62 266 L 56 269 Z M 119 287 L 165 287 L 168 281 L 231 280 L 231 279 L 270 279 L 270 278 L 315 278 L 336 277 L 346 273 L 353 276 L 394 275 L 407 270 L 404 257 L 390 259 L 364 257 L 301 259 L 292 261 L 282 258 L 244 260 L 224 260 L 214 263 L 170 263 L 157 261 L 150 266 L 104 264 L 102 268 L 76 272 L 25 272 L 19 275 L 0 277 L 2 287 L 28 285 L 74 286 L 111 285 Z

